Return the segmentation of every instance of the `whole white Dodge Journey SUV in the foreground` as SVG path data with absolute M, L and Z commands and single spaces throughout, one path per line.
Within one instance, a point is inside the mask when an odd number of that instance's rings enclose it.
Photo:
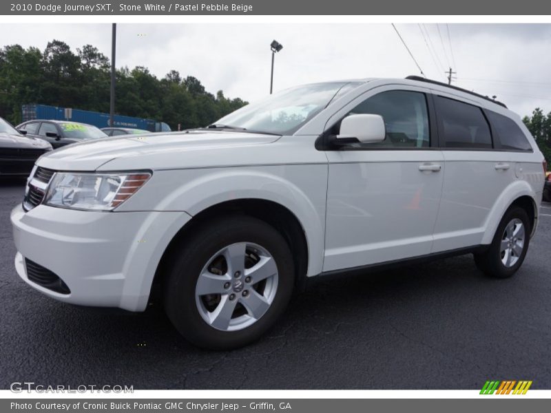
M 204 129 L 42 156 L 11 215 L 15 267 L 86 306 L 143 311 L 159 290 L 189 341 L 235 348 L 307 277 L 464 253 L 509 277 L 543 163 L 519 116 L 457 87 L 304 85 Z

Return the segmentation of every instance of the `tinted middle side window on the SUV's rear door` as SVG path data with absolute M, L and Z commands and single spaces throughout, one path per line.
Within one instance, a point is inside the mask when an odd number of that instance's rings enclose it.
M 436 96 L 436 105 L 446 148 L 492 148 L 490 126 L 479 107 L 441 96 Z

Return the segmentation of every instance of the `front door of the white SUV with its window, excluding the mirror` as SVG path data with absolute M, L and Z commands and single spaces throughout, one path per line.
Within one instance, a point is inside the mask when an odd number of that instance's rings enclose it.
M 324 271 L 430 253 L 444 157 L 436 147 L 426 92 L 405 85 L 377 87 L 329 120 L 331 133 L 338 133 L 348 114 L 379 114 L 386 138 L 326 151 Z

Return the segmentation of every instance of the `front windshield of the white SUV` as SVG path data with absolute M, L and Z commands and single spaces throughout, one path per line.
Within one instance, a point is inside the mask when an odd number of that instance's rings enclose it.
M 352 89 L 357 85 L 349 82 L 331 82 L 293 87 L 258 103 L 242 107 L 218 120 L 215 125 L 291 135 L 321 112 L 341 88 Z

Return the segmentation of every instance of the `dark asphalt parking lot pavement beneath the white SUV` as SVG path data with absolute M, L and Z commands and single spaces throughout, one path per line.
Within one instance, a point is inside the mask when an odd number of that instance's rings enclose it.
M 161 306 L 104 313 L 27 286 L 9 219 L 22 195 L 21 182 L 0 182 L 0 388 L 479 389 L 511 379 L 551 389 L 551 204 L 511 279 L 485 277 L 465 255 L 321 280 L 257 343 L 210 352 L 182 339 Z

